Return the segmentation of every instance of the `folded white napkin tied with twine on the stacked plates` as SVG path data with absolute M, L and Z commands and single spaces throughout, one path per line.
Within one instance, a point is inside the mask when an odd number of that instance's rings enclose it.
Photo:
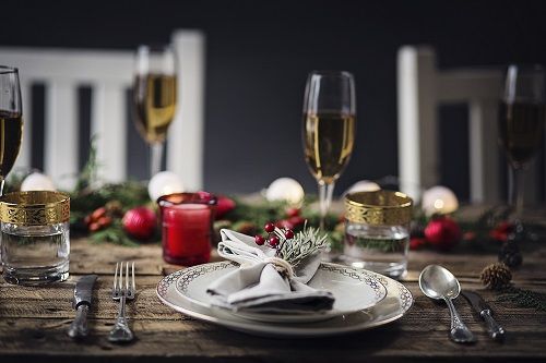
M 278 273 L 283 262 L 275 261 L 275 250 L 259 246 L 254 239 L 232 230 L 221 230 L 218 254 L 240 267 L 212 282 L 206 292 L 212 304 L 233 311 L 252 313 L 306 314 L 332 308 L 331 292 L 317 290 L 307 282 L 320 265 L 320 252 L 301 261 L 288 274 Z M 289 242 L 288 242 L 289 243 Z

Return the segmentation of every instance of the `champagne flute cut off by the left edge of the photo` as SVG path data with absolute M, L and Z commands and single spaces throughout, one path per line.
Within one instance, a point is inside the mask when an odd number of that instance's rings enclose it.
M 23 109 L 16 68 L 0 65 L 0 195 L 23 138 Z

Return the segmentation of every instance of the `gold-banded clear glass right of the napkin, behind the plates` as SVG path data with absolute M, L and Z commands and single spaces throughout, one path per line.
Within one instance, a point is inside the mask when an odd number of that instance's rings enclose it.
M 401 192 L 373 191 L 345 195 L 342 259 L 395 279 L 407 271 L 413 201 Z

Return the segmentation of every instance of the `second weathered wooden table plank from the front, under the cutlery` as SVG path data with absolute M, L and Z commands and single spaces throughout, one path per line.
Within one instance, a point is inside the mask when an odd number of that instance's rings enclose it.
M 71 277 L 68 282 L 57 283 L 48 289 L 17 287 L 5 282 L 0 285 L 0 317 L 72 318 L 74 316 L 72 294 L 75 279 L 76 277 Z M 136 299 L 128 304 L 128 314 L 133 319 L 170 320 L 180 318 L 180 314 L 163 305 L 157 299 L 155 288 L 159 279 L 158 276 L 138 276 Z M 110 298 L 111 283 L 112 277 L 109 275 L 98 278 L 93 295 L 94 307 L 90 315 L 92 318 L 114 318 L 116 316 L 118 305 Z M 415 305 L 408 312 L 407 319 L 422 322 L 420 325 L 424 326 L 429 324 L 447 326 L 449 317 L 443 303 L 436 303 L 424 297 L 416 282 L 407 282 L 405 286 L 415 298 Z M 522 285 L 522 287 L 531 287 L 535 291 L 546 292 L 546 285 L 527 283 Z M 482 286 L 476 282 L 463 283 L 463 288 L 479 290 L 484 299 L 489 301 L 497 311 L 500 319 L 510 316 L 529 327 L 534 326 L 538 329 L 541 324 L 546 327 L 546 313 L 536 313 L 532 308 L 515 308 L 508 303 L 497 303 L 495 292 L 482 289 Z M 456 299 L 455 305 L 460 308 L 463 317 L 474 320 L 473 312 L 465 300 Z M 426 315 L 423 315 L 424 311 L 427 312 Z

